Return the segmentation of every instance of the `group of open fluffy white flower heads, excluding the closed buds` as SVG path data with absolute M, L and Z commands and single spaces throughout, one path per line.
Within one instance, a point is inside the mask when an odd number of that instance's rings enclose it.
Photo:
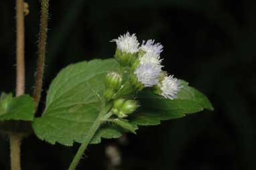
M 155 86 L 155 88 L 158 88 L 156 92 L 165 98 L 170 98 L 171 100 L 176 98 L 180 88 L 182 88 L 180 82 L 174 76 L 167 75 L 162 80 L 159 80 L 164 67 L 160 58 L 164 48 L 162 44 L 155 43 L 155 40 L 149 39 L 147 41 L 143 40 L 139 47 L 135 33 L 130 34 L 129 32 L 120 35 L 118 39 L 113 39 L 113 41 L 117 43 L 117 50 L 121 50 L 123 53 L 136 54 L 138 52 L 137 56 L 135 56 L 136 59 L 133 60 L 133 74 L 137 82 L 142 84 L 142 87 Z

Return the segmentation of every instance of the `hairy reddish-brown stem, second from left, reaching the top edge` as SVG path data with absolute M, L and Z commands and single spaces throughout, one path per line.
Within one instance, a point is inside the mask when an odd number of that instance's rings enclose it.
M 38 44 L 38 64 L 36 68 L 36 82 L 33 98 L 36 103 L 36 110 L 41 97 L 43 76 L 44 76 L 44 62 L 46 58 L 46 39 L 48 30 L 48 7 L 49 0 L 41 0 L 41 18 Z

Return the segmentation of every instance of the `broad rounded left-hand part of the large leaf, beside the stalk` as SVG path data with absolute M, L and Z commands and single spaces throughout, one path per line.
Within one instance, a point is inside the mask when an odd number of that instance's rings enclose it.
M 43 116 L 33 122 L 38 138 L 52 144 L 82 143 L 99 116 L 105 75 L 117 69 L 119 64 L 113 59 L 80 62 L 64 68 L 50 85 Z M 115 138 L 121 134 L 118 126 L 105 124 L 91 143 L 99 143 L 101 137 Z

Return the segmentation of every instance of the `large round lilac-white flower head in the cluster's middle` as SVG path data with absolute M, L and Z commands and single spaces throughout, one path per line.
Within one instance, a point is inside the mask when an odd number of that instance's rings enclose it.
M 142 63 L 136 68 L 134 74 L 137 80 L 145 87 L 158 84 L 158 77 L 162 72 L 162 66 L 158 64 Z

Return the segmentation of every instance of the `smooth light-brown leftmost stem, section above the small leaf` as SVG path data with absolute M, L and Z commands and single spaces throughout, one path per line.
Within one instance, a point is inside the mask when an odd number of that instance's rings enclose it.
M 16 0 L 16 26 L 16 96 L 21 96 L 25 91 L 23 0 Z

